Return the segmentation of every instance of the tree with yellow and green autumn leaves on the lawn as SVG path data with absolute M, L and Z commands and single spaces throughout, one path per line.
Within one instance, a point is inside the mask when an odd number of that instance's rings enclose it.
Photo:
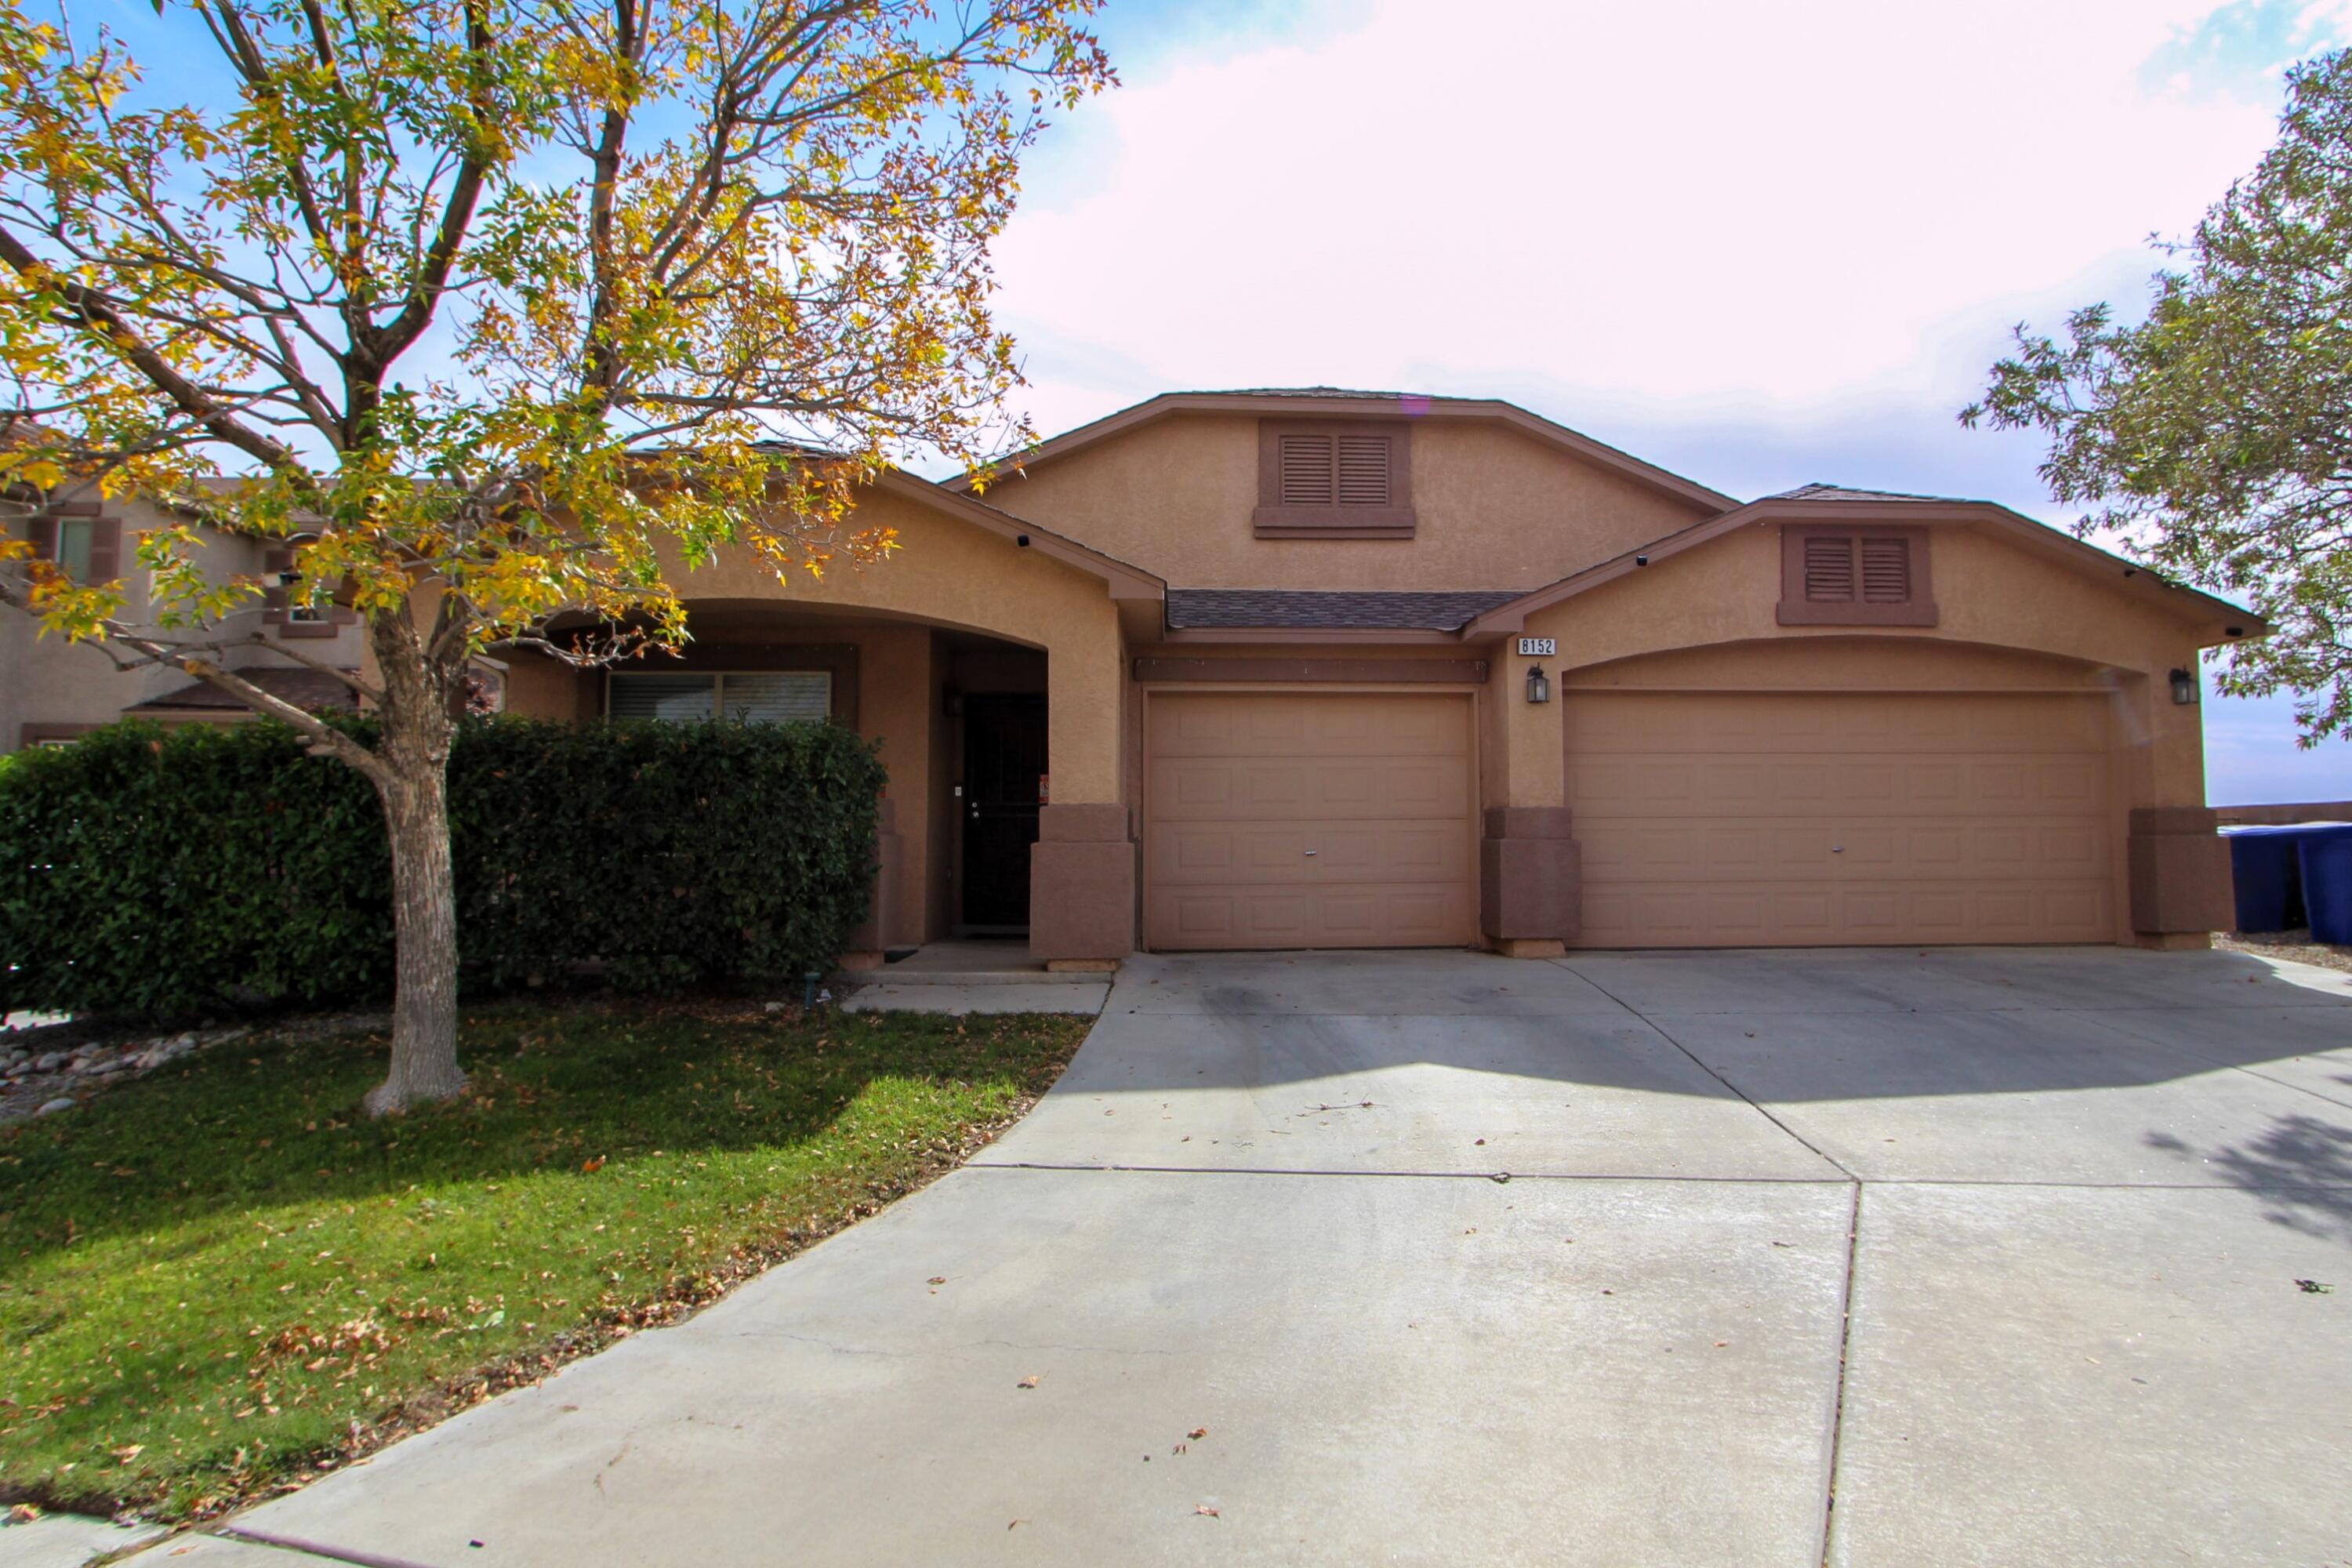
M 861 480 L 1025 437 L 988 244 L 1044 118 L 1115 80 L 1096 2 L 158 0 L 160 82 L 122 33 L 0 0 L 0 489 L 292 541 L 289 602 L 367 625 L 376 738 L 221 665 L 278 583 L 207 576 L 188 524 L 136 545 L 151 623 L 42 562 L 0 597 L 376 788 L 397 997 L 369 1110 L 466 1081 L 470 663 L 677 646 L 680 571 L 875 559 Z M 183 101 L 205 73 L 221 101 Z

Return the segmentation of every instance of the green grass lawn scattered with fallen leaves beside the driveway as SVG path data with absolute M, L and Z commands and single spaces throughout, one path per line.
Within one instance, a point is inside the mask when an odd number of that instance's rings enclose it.
M 1075 1018 L 468 1016 L 235 1041 L 0 1131 L 0 1497 L 216 1512 L 710 1300 L 1042 1093 Z M 597 1164 L 602 1161 L 602 1164 Z

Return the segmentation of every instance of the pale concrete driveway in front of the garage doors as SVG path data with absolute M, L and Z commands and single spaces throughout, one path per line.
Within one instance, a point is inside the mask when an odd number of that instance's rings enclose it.
M 2347 1465 L 2352 976 L 1270 954 L 1131 961 L 974 1166 L 235 1526 L 435 1568 L 2310 1568 Z

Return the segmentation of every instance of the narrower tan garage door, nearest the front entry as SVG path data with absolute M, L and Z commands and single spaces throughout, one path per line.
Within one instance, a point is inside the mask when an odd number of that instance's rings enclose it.
M 1152 947 L 1475 938 L 1468 696 L 1152 693 Z

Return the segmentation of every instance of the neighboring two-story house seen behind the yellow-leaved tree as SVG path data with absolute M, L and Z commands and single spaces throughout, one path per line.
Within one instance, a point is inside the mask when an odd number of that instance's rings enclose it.
M 139 501 L 99 501 L 96 491 L 59 491 L 31 520 L 14 524 L 35 555 L 61 564 L 80 581 L 122 578 L 129 595 L 122 616 L 151 623 L 148 581 L 134 555 L 136 536 L 183 517 L 169 517 Z M 207 574 L 261 576 L 282 571 L 292 552 L 282 541 L 247 538 L 198 527 Z M 273 590 L 268 604 L 230 618 L 228 635 L 259 637 L 230 649 L 221 665 L 299 708 L 353 708 L 350 686 L 332 675 L 273 654 L 287 644 L 306 658 L 339 670 L 360 670 L 362 635 L 348 609 L 289 609 Z M 122 717 L 165 724 L 233 722 L 252 717 L 230 696 L 188 677 L 186 670 L 146 665 L 118 670 L 99 646 L 42 637 L 24 614 L 0 609 L 0 750 L 71 741 Z

